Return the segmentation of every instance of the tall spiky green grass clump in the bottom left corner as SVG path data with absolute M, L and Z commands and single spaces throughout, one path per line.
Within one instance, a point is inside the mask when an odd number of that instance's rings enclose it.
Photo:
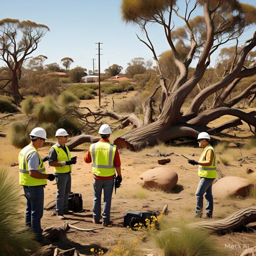
M 10 170 L 0 166 L 0 241 L 1 255 L 28 255 L 39 247 L 32 231 L 15 211 L 21 202 L 19 188 Z M 24 199 L 22 199 L 24 200 Z M 30 253 L 29 253 L 30 254 Z

